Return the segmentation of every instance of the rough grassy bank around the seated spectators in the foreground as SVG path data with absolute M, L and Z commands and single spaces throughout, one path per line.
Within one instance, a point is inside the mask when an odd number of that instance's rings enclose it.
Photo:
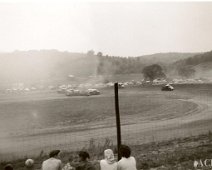
M 175 138 L 160 142 L 150 142 L 147 144 L 130 145 L 132 155 L 136 158 L 138 170 L 195 170 L 195 160 L 211 159 L 212 157 L 212 133 L 185 138 Z M 111 148 L 115 151 L 116 146 L 112 141 L 106 139 L 103 145 L 98 145 L 98 141 L 90 140 L 89 145 L 83 150 L 87 150 L 91 155 L 91 161 L 99 170 L 99 160 L 103 159 L 105 149 Z M 60 159 L 63 165 L 68 162 L 70 156 L 76 155 L 77 152 L 69 150 L 62 151 Z M 0 169 L 7 163 L 12 163 L 16 170 L 24 170 L 24 162 L 28 157 L 13 161 L 0 163 Z M 41 152 L 34 156 L 35 168 L 41 169 L 42 161 L 47 159 L 46 153 Z M 209 170 L 211 167 L 202 167 L 201 170 Z

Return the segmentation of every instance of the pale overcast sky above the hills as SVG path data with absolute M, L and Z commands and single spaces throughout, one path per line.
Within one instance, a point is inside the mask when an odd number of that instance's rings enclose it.
M 0 52 L 205 52 L 212 50 L 211 39 L 210 1 L 0 0 Z

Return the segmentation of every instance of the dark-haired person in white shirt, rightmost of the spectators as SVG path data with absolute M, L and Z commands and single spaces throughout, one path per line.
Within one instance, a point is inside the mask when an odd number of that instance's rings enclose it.
M 129 146 L 122 145 L 120 147 L 121 160 L 118 161 L 118 170 L 137 170 L 136 160 L 131 156 L 131 149 Z

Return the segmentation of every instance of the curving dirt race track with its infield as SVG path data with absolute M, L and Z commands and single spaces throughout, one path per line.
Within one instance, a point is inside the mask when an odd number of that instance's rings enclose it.
M 212 130 L 212 85 L 120 89 L 122 140 L 141 144 Z M 116 141 L 113 89 L 99 96 L 55 92 L 1 94 L 0 157 L 37 155 L 52 148 L 77 150 L 93 138 Z

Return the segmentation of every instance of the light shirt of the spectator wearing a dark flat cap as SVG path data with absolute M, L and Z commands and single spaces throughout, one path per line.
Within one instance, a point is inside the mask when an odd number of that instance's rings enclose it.
M 56 158 L 49 158 L 42 163 L 42 170 L 61 170 L 62 162 Z

